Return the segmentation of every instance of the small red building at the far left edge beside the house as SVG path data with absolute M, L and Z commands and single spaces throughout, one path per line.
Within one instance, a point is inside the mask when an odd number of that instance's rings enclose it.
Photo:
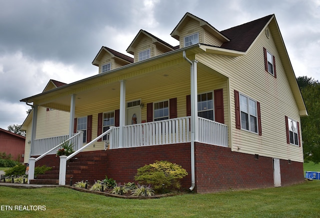
M 23 161 L 25 137 L 0 128 L 0 152 L 11 154 L 13 160 Z

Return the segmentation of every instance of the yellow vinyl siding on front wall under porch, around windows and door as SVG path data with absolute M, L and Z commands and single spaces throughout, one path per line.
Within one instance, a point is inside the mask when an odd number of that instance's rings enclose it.
M 226 80 L 218 76 L 205 76 L 198 78 L 198 93 L 209 92 L 214 89 L 223 88 L 224 101 L 224 120 L 228 124 L 227 113 L 227 84 Z M 140 99 L 144 103 L 141 110 L 141 120 L 146 120 L 146 104 L 149 102 L 157 102 L 169 100 L 170 98 L 177 98 L 177 116 L 186 116 L 186 95 L 190 94 L 190 83 L 179 82 L 174 85 L 166 85 L 158 88 L 149 89 L 146 91 L 130 94 L 126 93 L 126 101 Z M 102 100 L 93 104 L 87 104 L 82 107 L 77 107 L 75 111 L 76 117 L 92 115 L 92 139 L 97 136 L 97 116 L 100 112 L 108 112 L 119 109 L 119 99 L 113 98 L 110 100 Z M 85 150 L 99 150 L 103 149 L 104 142 L 96 142 L 94 146 L 90 146 Z

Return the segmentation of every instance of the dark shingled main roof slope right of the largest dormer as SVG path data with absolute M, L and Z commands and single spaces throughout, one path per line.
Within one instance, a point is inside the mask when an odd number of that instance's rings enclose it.
M 267 15 L 256 20 L 222 30 L 221 33 L 227 36 L 230 40 L 224 42 L 220 47 L 246 51 L 270 21 L 272 16 L 273 14 Z

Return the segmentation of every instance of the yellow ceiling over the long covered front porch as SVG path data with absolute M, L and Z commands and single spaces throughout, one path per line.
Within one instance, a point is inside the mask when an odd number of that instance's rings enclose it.
M 194 53 L 196 52 L 189 52 L 189 55 L 192 56 Z M 217 72 L 198 63 L 197 73 L 198 77 L 202 77 Z M 33 101 L 33 104 L 69 111 L 70 95 L 73 93 L 76 94 L 76 106 L 119 98 L 120 80 L 125 80 L 126 93 L 138 93 L 181 81 L 189 81 L 190 64 L 183 59 L 181 51 L 163 58 L 145 61 L 143 64 L 120 67 L 112 72 L 92 76 L 66 85 L 66 87 L 61 86 L 61 88 L 35 95 L 27 100 L 28 102 Z

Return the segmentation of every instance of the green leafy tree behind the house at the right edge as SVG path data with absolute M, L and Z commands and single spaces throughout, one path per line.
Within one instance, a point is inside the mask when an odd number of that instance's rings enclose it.
M 301 117 L 304 161 L 320 162 L 320 83 L 307 76 L 297 77 L 308 116 Z

